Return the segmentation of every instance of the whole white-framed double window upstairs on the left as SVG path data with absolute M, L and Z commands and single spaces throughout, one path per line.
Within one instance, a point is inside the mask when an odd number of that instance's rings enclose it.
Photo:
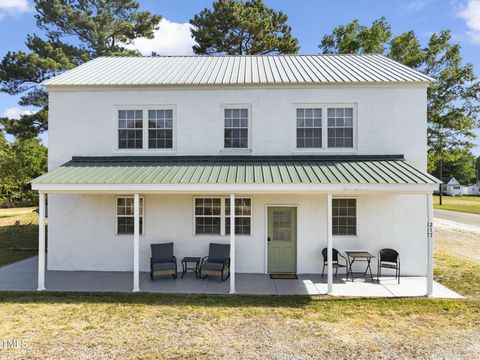
M 174 148 L 174 109 L 135 106 L 118 109 L 118 149 L 171 150 Z

